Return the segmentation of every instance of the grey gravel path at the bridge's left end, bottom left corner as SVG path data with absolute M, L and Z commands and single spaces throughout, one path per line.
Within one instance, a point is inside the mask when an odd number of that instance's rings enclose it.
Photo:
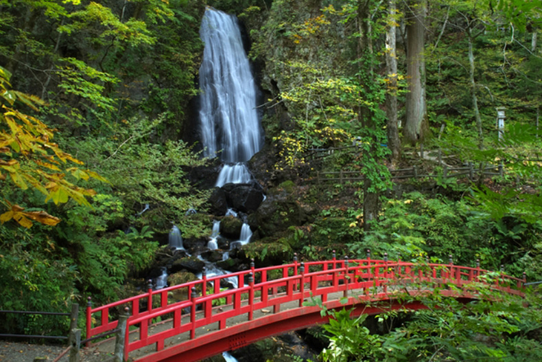
M 45 361 L 54 361 L 67 346 L 51 346 L 46 344 L 32 344 L 20 342 L 0 341 L 1 362 L 33 362 L 41 357 Z M 58 362 L 68 362 L 69 352 Z M 105 362 L 112 360 L 110 354 L 99 352 L 97 348 L 82 349 L 80 351 L 81 362 Z

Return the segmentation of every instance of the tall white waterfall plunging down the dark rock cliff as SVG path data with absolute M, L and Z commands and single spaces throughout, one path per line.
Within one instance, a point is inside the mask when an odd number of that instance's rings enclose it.
M 200 27 L 200 133 L 207 157 L 224 161 L 217 186 L 246 183 L 248 161 L 263 144 L 256 109 L 257 87 L 237 18 L 207 8 Z

